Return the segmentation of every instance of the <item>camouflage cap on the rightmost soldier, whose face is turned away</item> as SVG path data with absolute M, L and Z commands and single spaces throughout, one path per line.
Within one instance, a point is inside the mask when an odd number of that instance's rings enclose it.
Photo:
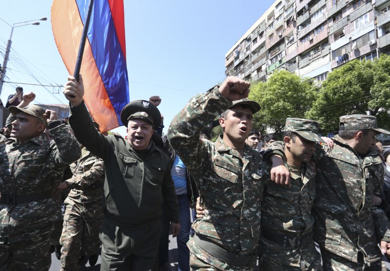
M 376 117 L 370 115 L 346 115 L 340 117 L 340 131 L 351 130 L 366 130 L 372 129 L 385 135 L 390 135 L 390 132 L 381 128 L 378 128 L 376 124 Z

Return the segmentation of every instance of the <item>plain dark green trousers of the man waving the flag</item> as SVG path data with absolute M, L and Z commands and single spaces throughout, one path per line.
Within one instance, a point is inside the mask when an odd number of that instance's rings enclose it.
M 101 266 L 104 271 L 156 271 L 161 223 L 137 229 L 119 228 L 105 217 L 100 229 Z

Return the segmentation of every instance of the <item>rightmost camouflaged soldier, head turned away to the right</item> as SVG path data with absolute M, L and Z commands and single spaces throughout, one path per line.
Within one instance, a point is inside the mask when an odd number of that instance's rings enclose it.
M 382 210 L 371 206 L 373 193 L 383 184 L 375 180 L 383 176 L 382 160 L 370 149 L 377 133 L 389 134 L 377 127 L 374 116 L 342 116 L 339 135 L 332 138 L 333 149 L 317 145 L 313 155 L 317 164 L 314 240 L 320 245 L 324 270 L 386 270 L 381 249 L 387 253 L 390 223 Z

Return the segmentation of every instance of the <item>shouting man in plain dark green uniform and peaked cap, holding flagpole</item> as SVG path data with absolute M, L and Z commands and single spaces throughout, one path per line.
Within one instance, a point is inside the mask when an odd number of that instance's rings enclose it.
M 161 114 L 149 101 L 134 101 L 120 114 L 128 139 L 99 133 L 83 102 L 82 79 L 68 77 L 69 123 L 80 144 L 104 161 L 104 209 L 100 230 L 102 270 L 156 270 L 162 200 L 173 236 L 180 230 L 170 158 L 151 141 Z

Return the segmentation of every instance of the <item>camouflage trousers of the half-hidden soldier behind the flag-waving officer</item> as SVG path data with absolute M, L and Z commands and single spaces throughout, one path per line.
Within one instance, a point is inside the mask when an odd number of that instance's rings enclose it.
M 61 270 L 80 270 L 78 260 L 81 249 L 87 255 L 98 253 L 99 230 L 103 217 L 100 200 L 87 203 L 71 200 L 71 203 L 66 205 L 62 234 L 59 239 L 62 246 Z

